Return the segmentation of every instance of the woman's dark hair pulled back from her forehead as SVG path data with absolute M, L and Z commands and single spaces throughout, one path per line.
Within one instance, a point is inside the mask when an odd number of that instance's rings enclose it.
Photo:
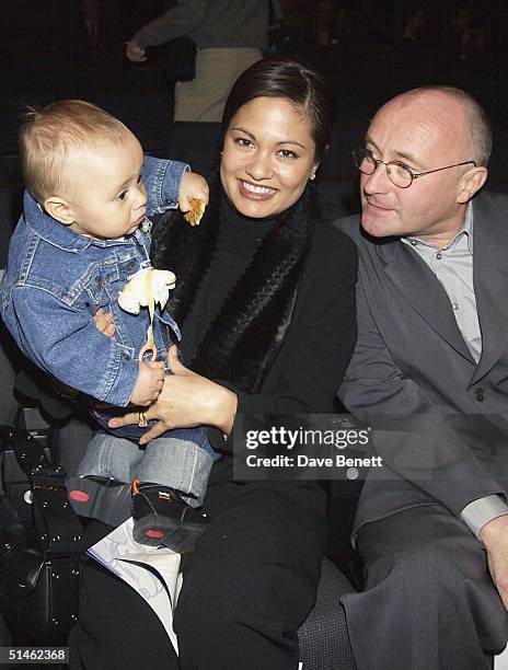
M 296 60 L 258 60 L 240 74 L 231 89 L 222 116 L 222 137 L 240 107 L 256 97 L 281 97 L 307 114 L 312 125 L 315 160 L 321 161 L 332 132 L 332 104 L 321 74 Z

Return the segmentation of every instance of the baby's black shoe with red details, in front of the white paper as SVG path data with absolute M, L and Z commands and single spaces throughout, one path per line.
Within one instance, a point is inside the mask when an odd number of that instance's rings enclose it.
M 132 482 L 132 536 L 140 544 L 163 544 L 177 553 L 193 548 L 209 519 L 169 486 Z

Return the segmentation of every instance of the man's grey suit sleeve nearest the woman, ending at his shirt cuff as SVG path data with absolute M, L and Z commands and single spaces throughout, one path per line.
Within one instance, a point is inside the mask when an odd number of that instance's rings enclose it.
M 501 494 L 450 419 L 393 361 L 357 285 L 358 339 L 339 397 L 373 427 L 373 448 L 390 470 L 459 516 L 472 500 Z M 390 471 L 386 471 L 388 475 Z

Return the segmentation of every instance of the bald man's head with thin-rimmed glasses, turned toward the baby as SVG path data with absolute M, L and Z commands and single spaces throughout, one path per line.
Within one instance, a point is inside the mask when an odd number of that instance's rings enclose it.
M 483 109 L 458 89 L 415 89 L 386 102 L 365 138 L 376 168 L 360 177 L 363 230 L 448 244 L 485 183 L 490 141 Z M 397 164 L 413 175 L 407 186 L 393 181 Z

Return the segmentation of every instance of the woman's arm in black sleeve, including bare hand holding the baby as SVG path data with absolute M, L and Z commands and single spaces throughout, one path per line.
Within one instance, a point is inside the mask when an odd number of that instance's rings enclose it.
M 322 231 L 304 281 L 299 314 L 268 374 L 266 392 L 230 390 L 182 366 L 170 349 L 173 374 L 166 377 L 158 402 L 145 413 L 160 423 L 142 442 L 170 428 L 199 424 L 229 434 L 236 409 L 252 414 L 332 411 L 356 339 L 356 253 L 350 240 L 335 230 Z M 109 425 L 138 420 L 138 413 L 130 413 Z

